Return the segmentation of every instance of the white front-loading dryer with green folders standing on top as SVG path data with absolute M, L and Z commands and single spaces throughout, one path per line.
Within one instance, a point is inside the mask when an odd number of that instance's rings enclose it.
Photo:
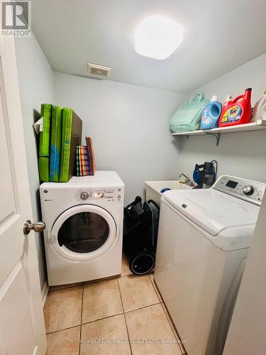
M 114 171 L 40 185 L 49 285 L 121 273 L 123 181 Z

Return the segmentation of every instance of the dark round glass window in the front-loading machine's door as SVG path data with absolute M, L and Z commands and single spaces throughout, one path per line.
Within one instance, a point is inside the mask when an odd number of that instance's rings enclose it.
M 109 224 L 94 212 L 79 212 L 62 224 L 57 240 L 60 246 L 75 253 L 89 253 L 101 248 L 109 236 Z

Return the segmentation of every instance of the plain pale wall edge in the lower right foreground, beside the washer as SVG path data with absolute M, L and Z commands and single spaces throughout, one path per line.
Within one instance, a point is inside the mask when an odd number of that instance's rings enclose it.
M 257 219 L 223 355 L 266 354 L 266 199 Z

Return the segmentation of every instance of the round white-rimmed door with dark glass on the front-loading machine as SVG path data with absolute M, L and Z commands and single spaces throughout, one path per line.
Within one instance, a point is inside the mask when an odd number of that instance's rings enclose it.
M 116 235 L 116 223 L 109 212 L 94 204 L 79 204 L 56 219 L 49 243 L 60 256 L 82 261 L 109 250 Z

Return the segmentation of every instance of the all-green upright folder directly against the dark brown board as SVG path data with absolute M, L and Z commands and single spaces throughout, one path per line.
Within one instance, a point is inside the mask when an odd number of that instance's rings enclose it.
M 60 182 L 68 181 L 70 169 L 70 145 L 72 136 L 72 116 L 73 110 L 64 107 L 62 114 L 62 149 L 60 163 Z

